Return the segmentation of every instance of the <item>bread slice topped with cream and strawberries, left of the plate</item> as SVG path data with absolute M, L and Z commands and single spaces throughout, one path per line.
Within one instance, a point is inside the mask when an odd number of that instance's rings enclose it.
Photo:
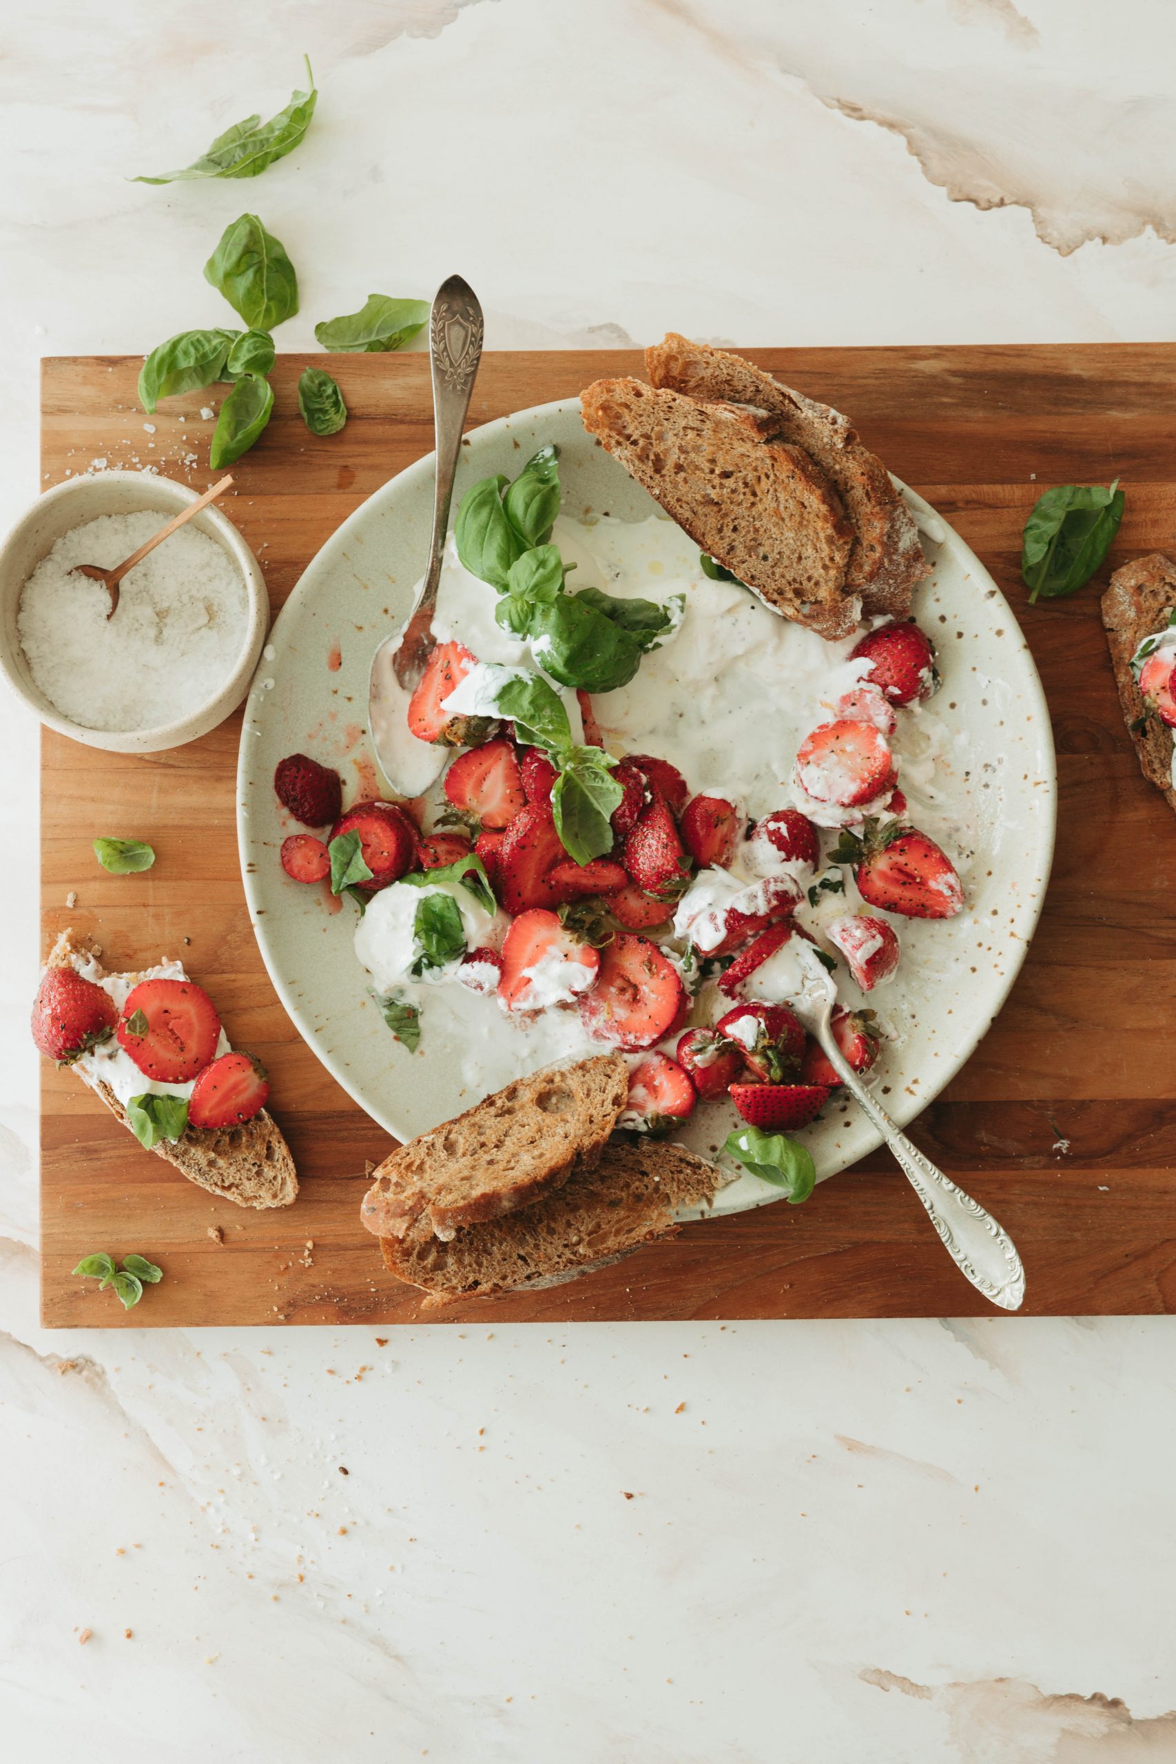
M 99 954 L 100 951 L 65 930 L 49 951 L 46 967 L 71 968 L 74 958 L 97 961 Z M 111 1087 L 100 1078 L 92 1081 L 81 1067 L 74 1071 L 130 1131 L 127 1111 Z M 289 1207 L 298 1196 L 294 1159 L 268 1110 L 236 1127 L 185 1127 L 178 1140 L 160 1140 L 152 1150 L 175 1164 L 189 1182 L 238 1207 Z

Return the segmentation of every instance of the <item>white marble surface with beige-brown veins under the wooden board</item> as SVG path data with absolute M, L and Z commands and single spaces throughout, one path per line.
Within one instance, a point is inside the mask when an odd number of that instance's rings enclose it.
M 217 321 L 242 208 L 300 268 L 284 348 L 451 268 L 490 346 L 1172 337 L 1174 35 L 1165 0 L 44 0 L 0 55 L 0 517 L 37 356 Z M 293 159 L 123 182 L 303 48 Z M 1169 1321 L 39 1330 L 2 716 L 5 1755 L 1176 1759 Z

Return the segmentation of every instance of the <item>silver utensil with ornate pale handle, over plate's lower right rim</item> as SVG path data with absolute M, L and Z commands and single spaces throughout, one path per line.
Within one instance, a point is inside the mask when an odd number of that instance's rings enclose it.
M 1016 1244 L 979 1201 L 936 1170 L 931 1159 L 899 1132 L 885 1110 L 878 1108 L 834 1039 L 830 1018 L 837 993 L 829 974 L 809 949 L 800 951 L 800 961 L 809 984 L 802 997 L 788 1000 L 792 1009 L 808 1032 L 816 1035 L 837 1078 L 894 1152 L 903 1175 L 927 1208 L 943 1249 L 964 1279 L 1001 1311 L 1019 1311 L 1024 1304 L 1024 1268 Z

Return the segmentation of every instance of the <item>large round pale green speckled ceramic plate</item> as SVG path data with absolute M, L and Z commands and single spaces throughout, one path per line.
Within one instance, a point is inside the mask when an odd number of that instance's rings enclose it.
M 564 513 L 626 520 L 654 510 L 580 425 L 578 402 L 547 404 L 467 437 L 457 494 L 494 471 L 515 475 L 547 441 L 561 446 Z M 1016 617 L 984 564 L 920 497 L 934 573 L 915 596 L 940 649 L 943 688 L 933 700 L 949 762 L 940 785 L 970 827 L 968 910 L 903 926 L 903 965 L 885 1000 L 901 1037 L 885 1050 L 880 1090 L 910 1122 L 959 1071 L 1012 986 L 1049 880 L 1054 838 L 1054 753 L 1049 713 Z M 273 767 L 293 751 L 335 757 L 358 792 L 377 794 L 363 725 L 376 642 L 409 612 L 432 517 L 432 459 L 400 473 L 335 533 L 282 609 L 249 697 L 238 769 L 238 836 L 245 894 L 270 977 L 298 1030 L 330 1073 L 388 1132 L 407 1140 L 469 1108 L 453 1050 L 425 1032 L 416 1055 L 395 1043 L 367 993 L 353 953 L 354 907 L 328 912 L 324 891 L 291 882 L 279 863 L 287 827 Z M 331 665 L 328 665 L 333 663 Z M 929 827 L 934 834 L 934 827 Z M 873 1002 L 873 1000 L 871 1000 Z M 707 1150 L 726 1132 L 700 1110 L 682 1140 Z M 878 1145 L 852 1104 L 825 1110 L 806 1132 L 818 1177 Z M 725 1189 L 719 1212 L 776 1200 L 753 1177 Z

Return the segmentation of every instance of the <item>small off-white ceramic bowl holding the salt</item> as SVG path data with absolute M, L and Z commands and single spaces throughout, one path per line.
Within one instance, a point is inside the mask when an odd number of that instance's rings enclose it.
M 199 490 L 190 490 L 187 483 L 157 478 L 153 473 L 99 471 L 93 476 L 67 478 L 65 483 L 46 490 L 9 533 L 0 547 L 0 669 L 12 690 L 49 729 L 74 741 L 85 741 L 88 748 L 106 748 L 109 753 L 162 753 L 164 748 L 182 748 L 187 741 L 206 736 L 249 691 L 270 626 L 270 596 L 257 559 L 233 522 L 215 506 L 203 508 L 190 524 L 215 540 L 233 559 L 245 584 L 249 609 L 233 672 L 197 711 L 159 729 L 86 729 L 85 723 L 62 716 L 35 684 L 16 633 L 25 582 L 63 533 L 86 520 L 97 520 L 99 515 L 132 515 L 143 510 L 159 513 L 159 524 L 164 526 L 197 496 Z

